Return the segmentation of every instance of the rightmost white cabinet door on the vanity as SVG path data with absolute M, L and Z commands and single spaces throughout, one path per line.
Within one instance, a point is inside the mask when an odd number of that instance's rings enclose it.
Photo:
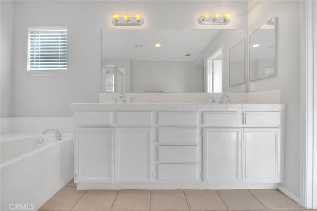
M 279 182 L 279 129 L 244 129 L 243 151 L 244 181 Z

